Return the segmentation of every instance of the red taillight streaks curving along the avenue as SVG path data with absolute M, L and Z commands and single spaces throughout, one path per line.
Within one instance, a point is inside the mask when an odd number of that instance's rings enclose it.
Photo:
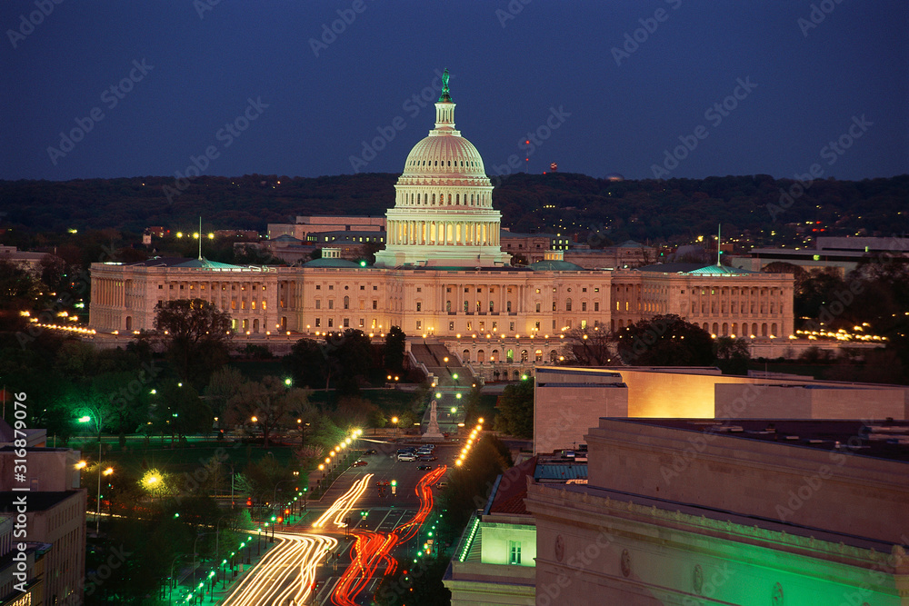
M 351 548 L 351 563 L 335 586 L 332 603 L 338 606 L 356 606 L 354 601 L 356 596 L 373 579 L 380 563 L 385 564 L 383 574 L 387 575 L 395 571 L 397 561 L 392 557 L 391 551 L 396 545 L 413 539 L 420 531 L 426 516 L 433 511 L 432 486 L 445 475 L 446 469 L 445 465 L 436 467 L 432 472 L 426 473 L 420 482 L 417 482 L 416 494 L 420 499 L 420 509 L 410 521 L 387 534 L 375 531 L 352 531 L 356 540 Z

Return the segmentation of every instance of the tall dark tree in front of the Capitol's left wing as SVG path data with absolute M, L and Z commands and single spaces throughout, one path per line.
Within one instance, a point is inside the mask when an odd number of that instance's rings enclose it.
M 167 352 L 184 381 L 208 378 L 227 361 L 231 341 L 230 313 L 203 299 L 159 303 L 155 330 L 164 334 Z

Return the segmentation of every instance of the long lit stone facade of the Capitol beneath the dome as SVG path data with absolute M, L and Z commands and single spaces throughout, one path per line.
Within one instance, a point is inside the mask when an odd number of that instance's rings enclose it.
M 720 333 L 736 326 L 722 297 L 704 303 L 704 312 L 698 306 L 694 314 L 689 313 L 690 303 L 676 301 L 689 296 L 682 294 L 690 290 L 687 278 L 625 271 L 616 284 L 616 274 L 326 267 L 215 270 L 93 263 L 90 325 L 103 333 L 152 330 L 159 302 L 202 298 L 231 313 L 239 334 L 325 333 L 345 328 L 346 320 L 346 327 L 365 332 L 382 333 L 397 325 L 410 335 L 459 340 L 533 335 L 550 343 L 544 348 L 546 356 L 564 331 L 621 327 L 659 313 L 679 313 Z M 750 317 L 758 333 L 763 333 L 764 325 L 771 332 L 789 331 L 789 277 L 762 275 L 737 284 L 752 279 L 760 287 L 726 290 L 754 291 L 754 297 L 764 297 L 763 306 L 754 303 L 757 311 Z M 786 296 L 789 303 L 769 303 Z

